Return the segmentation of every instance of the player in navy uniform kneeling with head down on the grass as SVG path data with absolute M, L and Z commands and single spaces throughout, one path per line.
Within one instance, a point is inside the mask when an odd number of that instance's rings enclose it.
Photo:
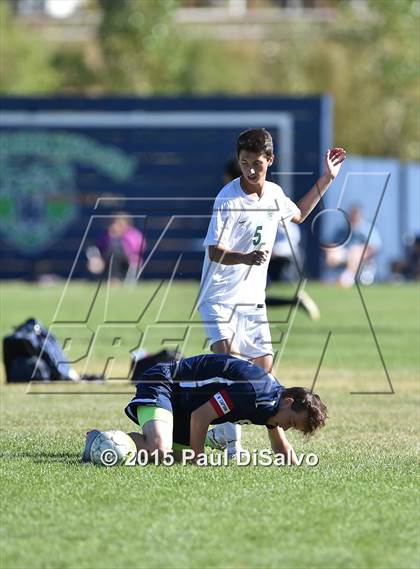
M 274 453 L 296 454 L 284 431 L 312 434 L 325 424 L 327 408 L 303 387 L 285 388 L 260 367 L 232 355 L 210 354 L 158 364 L 137 385 L 126 414 L 143 434 L 130 433 L 138 449 L 164 457 L 172 449 L 204 452 L 210 424 L 265 425 Z

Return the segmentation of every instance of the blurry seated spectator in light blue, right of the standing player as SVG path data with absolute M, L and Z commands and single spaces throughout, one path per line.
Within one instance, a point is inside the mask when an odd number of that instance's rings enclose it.
M 381 238 L 372 223 L 363 218 L 359 206 L 350 209 L 349 223 L 350 226 L 336 231 L 334 243 L 337 246 L 326 250 L 326 264 L 340 271 L 337 282 L 347 288 L 353 286 L 363 260 L 360 282 L 372 284 L 376 270 L 375 257 L 381 248 Z

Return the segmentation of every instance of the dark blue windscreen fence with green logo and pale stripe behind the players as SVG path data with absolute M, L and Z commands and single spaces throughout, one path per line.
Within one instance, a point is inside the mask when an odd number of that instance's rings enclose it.
M 0 100 L 3 279 L 89 278 L 86 249 L 122 211 L 147 239 L 144 278 L 198 278 L 238 134 L 270 130 L 272 179 L 295 201 L 332 142 L 328 96 Z M 310 277 L 320 274 L 319 231 L 303 226 Z

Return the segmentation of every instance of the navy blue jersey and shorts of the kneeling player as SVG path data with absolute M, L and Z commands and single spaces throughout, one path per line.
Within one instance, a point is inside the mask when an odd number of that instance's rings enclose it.
M 189 427 L 191 413 L 207 401 L 217 413 L 213 424 L 265 425 L 278 411 L 283 391 L 273 375 L 248 361 L 225 354 L 200 355 L 147 370 L 126 413 L 137 422 L 138 405 L 166 408 L 174 415 L 174 437 L 175 425 L 186 422 Z

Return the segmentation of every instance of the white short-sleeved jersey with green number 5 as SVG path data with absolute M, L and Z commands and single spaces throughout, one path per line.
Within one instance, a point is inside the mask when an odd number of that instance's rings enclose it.
M 208 247 L 220 245 L 229 251 L 250 253 L 271 251 L 281 220 L 299 212 L 273 182 L 265 182 L 261 198 L 247 195 L 240 179 L 229 182 L 217 195 L 204 247 L 206 254 L 201 276 L 198 306 L 211 304 L 263 304 L 268 261 L 262 265 L 223 265 L 210 260 Z

